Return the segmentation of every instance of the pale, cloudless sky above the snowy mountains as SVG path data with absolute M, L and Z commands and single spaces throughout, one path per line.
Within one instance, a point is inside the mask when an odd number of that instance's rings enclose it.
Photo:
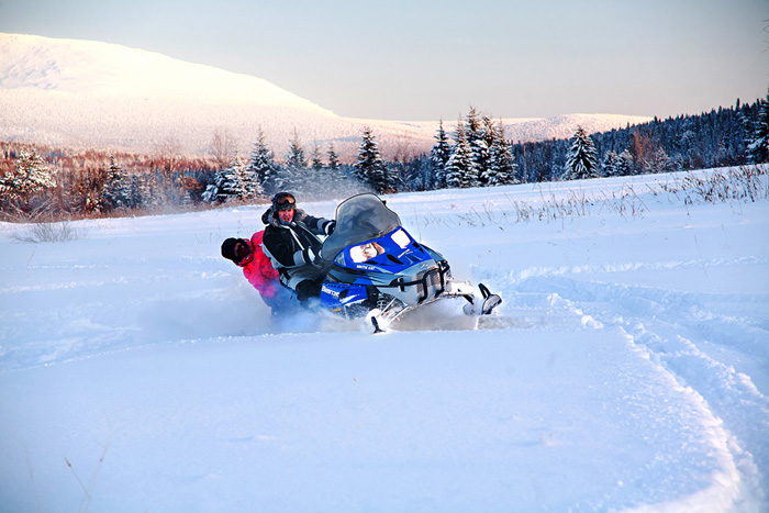
M 765 98 L 769 0 L 0 0 L 0 32 L 268 80 L 338 115 L 696 114 Z

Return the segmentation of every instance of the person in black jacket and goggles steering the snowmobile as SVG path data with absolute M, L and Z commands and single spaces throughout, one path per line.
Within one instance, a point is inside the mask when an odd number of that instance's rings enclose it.
M 289 192 L 275 194 L 261 221 L 267 225 L 263 248 L 280 274 L 280 282 L 293 289 L 301 302 L 317 298 L 326 270 L 319 256 L 319 236 L 331 235 L 336 222 L 297 209 L 297 200 Z

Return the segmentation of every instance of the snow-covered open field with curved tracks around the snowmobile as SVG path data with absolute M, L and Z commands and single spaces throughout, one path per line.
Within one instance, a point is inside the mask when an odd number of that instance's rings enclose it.
M 270 325 L 264 205 L 0 224 L 0 510 L 769 511 L 767 177 L 691 178 L 387 198 L 504 302 L 383 335 Z

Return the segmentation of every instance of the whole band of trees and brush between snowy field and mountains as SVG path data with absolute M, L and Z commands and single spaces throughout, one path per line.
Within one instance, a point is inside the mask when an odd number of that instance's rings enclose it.
M 438 124 L 428 154 L 382 158 L 376 134 L 363 131 L 354 163 L 333 142 L 308 152 L 294 131 L 278 159 L 261 129 L 241 155 L 226 132 L 213 134 L 209 158 L 179 155 L 172 140 L 152 157 L 0 143 L 0 213 L 4 219 L 178 211 L 265 200 L 280 190 L 307 200 L 443 188 L 627 176 L 769 161 L 766 100 L 718 108 L 569 140 L 513 143 L 504 127 L 470 108 L 453 134 Z

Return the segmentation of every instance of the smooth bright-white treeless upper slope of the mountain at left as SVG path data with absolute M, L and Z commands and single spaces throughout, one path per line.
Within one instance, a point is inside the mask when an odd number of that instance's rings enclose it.
M 186 99 L 333 115 L 259 78 L 121 45 L 2 34 L 0 54 L 2 88 L 8 90 L 113 99 Z

